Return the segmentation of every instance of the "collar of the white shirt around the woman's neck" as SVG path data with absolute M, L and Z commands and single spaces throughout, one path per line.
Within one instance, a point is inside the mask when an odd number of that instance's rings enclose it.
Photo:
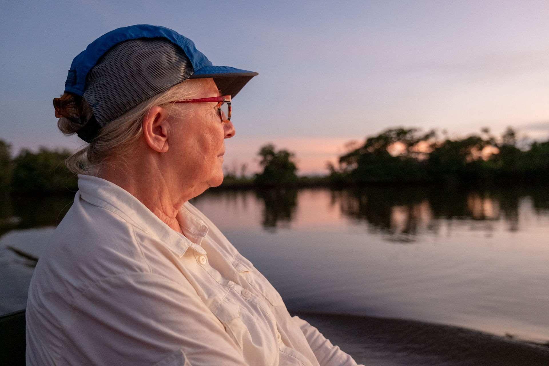
M 177 256 L 183 256 L 189 246 L 201 254 L 206 253 L 200 244 L 208 234 L 208 227 L 184 207 L 190 205 L 188 202 L 181 207 L 176 216 L 185 234 L 182 235 L 167 226 L 135 196 L 114 183 L 78 174 L 78 188 L 83 200 L 116 213 L 128 223 L 159 240 Z

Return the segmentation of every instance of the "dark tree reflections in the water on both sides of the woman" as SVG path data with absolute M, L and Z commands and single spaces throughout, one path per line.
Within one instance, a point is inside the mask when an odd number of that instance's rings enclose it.
M 193 202 L 210 196 L 242 205 L 242 210 L 246 210 L 248 201 L 254 201 L 250 205 L 261 206 L 261 226 L 274 232 L 276 228 L 290 228 L 295 223 L 299 205 L 306 205 L 299 198 L 301 194 L 304 191 L 296 189 L 213 190 Z M 520 202 L 525 200 L 534 215 L 549 213 L 549 189 L 540 185 L 503 188 L 373 186 L 332 190 L 329 194 L 332 209 L 352 221 L 366 223 L 371 232 L 383 234 L 386 240 L 401 243 L 413 242 L 421 233 L 439 233 L 444 224 L 466 223 L 472 230 L 490 232 L 498 222 L 503 222 L 506 230 L 515 232 L 520 229 Z M 0 235 L 12 229 L 57 226 L 72 200 L 72 195 L 0 196 Z M 322 213 L 316 210 L 308 215 Z M 323 219 L 326 218 L 318 217 L 318 220 Z

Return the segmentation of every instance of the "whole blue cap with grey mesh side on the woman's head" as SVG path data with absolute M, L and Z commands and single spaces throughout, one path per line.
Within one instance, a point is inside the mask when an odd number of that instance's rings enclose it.
M 234 97 L 255 75 L 214 66 L 188 38 L 141 24 L 115 29 L 90 43 L 72 60 L 65 92 L 83 97 L 93 111 L 77 133 L 89 142 L 99 128 L 189 78 L 211 77 L 221 95 Z

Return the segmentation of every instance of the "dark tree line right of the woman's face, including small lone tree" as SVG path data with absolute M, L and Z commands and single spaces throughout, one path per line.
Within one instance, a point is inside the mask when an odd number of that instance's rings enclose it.
M 328 163 L 326 177 L 298 177 L 295 154 L 272 144 L 259 151 L 264 169 L 241 178 L 259 187 L 361 185 L 376 183 L 487 183 L 549 179 L 549 141 L 519 146 L 517 132 L 508 127 L 496 138 L 488 128 L 464 138 L 440 139 L 434 130 L 388 128 L 350 145 L 338 166 Z M 238 182 L 228 174 L 227 185 Z

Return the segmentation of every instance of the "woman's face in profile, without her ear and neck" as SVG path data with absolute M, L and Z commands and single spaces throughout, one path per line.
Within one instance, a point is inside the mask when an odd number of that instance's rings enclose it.
M 194 79 L 191 82 L 200 85 L 194 98 L 220 95 L 212 78 Z M 167 152 L 170 153 L 172 164 L 175 164 L 175 178 L 183 187 L 190 185 L 194 191 L 201 190 L 200 193 L 223 182 L 225 139 L 233 137 L 235 133 L 230 121 L 221 122 L 216 105 L 216 102 L 180 104 L 181 108 L 188 108 L 191 113 L 173 117 L 171 121 L 173 133 Z

